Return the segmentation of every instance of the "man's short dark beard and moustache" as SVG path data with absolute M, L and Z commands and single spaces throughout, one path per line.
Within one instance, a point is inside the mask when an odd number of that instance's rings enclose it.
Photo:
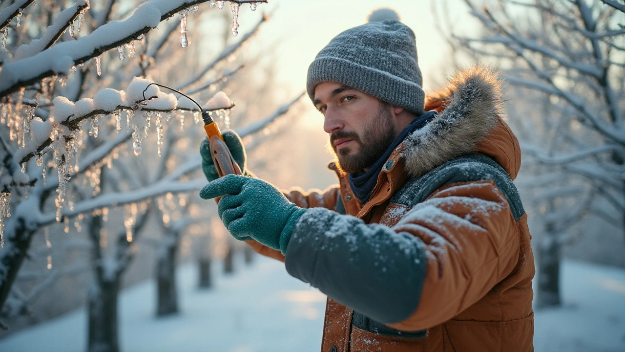
M 351 153 L 354 147 L 344 147 L 337 152 L 334 141 L 341 138 L 352 139 L 360 148 L 355 153 Z M 337 167 L 347 173 L 358 172 L 373 165 L 384 155 L 393 140 L 395 126 L 392 123 L 390 105 L 385 103 L 380 103 L 377 118 L 364 128 L 362 138 L 356 132 L 339 131 L 330 135 L 330 145 L 338 160 Z

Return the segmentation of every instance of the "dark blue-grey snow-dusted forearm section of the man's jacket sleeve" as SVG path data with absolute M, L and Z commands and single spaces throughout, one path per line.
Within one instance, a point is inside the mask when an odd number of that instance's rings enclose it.
M 286 270 L 380 323 L 408 318 L 426 275 L 418 237 L 332 210 L 307 210 L 286 249 Z

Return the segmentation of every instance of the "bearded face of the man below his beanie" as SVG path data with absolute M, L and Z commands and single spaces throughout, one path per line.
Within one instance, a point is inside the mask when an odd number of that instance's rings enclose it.
M 324 115 L 324 130 L 345 172 L 371 167 L 396 137 L 391 106 L 341 83 L 322 82 L 314 105 Z

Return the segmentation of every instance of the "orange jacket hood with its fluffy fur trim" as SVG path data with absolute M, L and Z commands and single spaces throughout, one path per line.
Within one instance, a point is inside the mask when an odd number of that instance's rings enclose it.
M 425 110 L 438 115 L 406 138 L 404 168 L 418 177 L 462 155 L 493 158 L 514 179 L 521 165 L 519 142 L 501 118 L 501 81 L 489 68 L 459 71 L 444 88 L 426 96 Z

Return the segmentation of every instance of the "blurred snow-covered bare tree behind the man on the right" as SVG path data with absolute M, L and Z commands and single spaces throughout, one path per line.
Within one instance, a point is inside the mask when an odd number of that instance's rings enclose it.
M 538 296 L 543 306 L 557 305 L 560 246 L 574 225 L 588 215 L 614 221 L 621 214 L 621 228 L 625 220 L 624 6 L 611 0 L 465 3 L 482 34 L 451 28 L 447 35 L 454 48 L 502 68 L 516 87 L 509 122 L 531 131 L 521 147 L 524 165 L 534 165 L 524 172 L 535 177 L 524 184 L 534 189 L 530 204 L 544 236 Z

